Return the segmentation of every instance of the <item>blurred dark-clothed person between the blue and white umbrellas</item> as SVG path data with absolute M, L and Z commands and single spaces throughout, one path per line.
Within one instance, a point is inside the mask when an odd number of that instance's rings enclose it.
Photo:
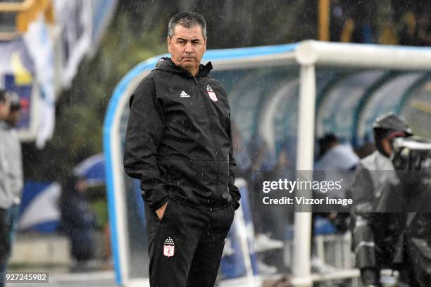
M 85 180 L 70 175 L 63 182 L 60 197 L 61 227 L 70 237 L 77 269 L 85 267 L 85 263 L 94 256 L 96 218 L 85 200 L 85 191 Z

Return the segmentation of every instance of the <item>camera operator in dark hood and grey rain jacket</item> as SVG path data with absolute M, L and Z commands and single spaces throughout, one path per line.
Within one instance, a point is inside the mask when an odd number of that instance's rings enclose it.
M 392 224 L 393 214 L 374 215 L 371 212 L 372 199 L 378 198 L 395 177 L 391 161 L 394 139 L 413 134 L 408 123 L 392 113 L 378 117 L 373 131 L 377 151 L 361 160 L 349 189 L 349 198 L 353 198 L 355 204 L 351 211 L 351 248 L 356 255 L 356 267 L 361 270 L 361 279 L 367 287 L 381 286 L 380 271 L 390 267 L 399 232 Z

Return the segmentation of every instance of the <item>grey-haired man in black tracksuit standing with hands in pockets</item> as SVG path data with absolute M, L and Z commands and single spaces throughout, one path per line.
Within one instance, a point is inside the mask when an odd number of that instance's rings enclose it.
M 141 182 L 150 285 L 209 287 L 239 207 L 230 107 L 201 65 L 204 18 L 174 15 L 167 44 L 130 98 L 124 168 Z

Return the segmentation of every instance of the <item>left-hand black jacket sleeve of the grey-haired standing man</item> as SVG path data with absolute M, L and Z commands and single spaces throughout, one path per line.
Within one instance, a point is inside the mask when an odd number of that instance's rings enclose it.
M 163 129 L 163 109 L 156 100 L 154 80 L 144 79 L 130 98 L 123 164 L 130 177 L 140 179 L 144 201 L 152 210 L 168 201 L 157 164 Z

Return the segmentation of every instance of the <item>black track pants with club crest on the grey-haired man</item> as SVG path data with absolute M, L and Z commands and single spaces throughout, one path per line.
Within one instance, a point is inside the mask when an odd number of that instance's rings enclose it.
M 234 205 L 196 210 L 170 199 L 162 219 L 145 205 L 151 287 L 213 287 Z

